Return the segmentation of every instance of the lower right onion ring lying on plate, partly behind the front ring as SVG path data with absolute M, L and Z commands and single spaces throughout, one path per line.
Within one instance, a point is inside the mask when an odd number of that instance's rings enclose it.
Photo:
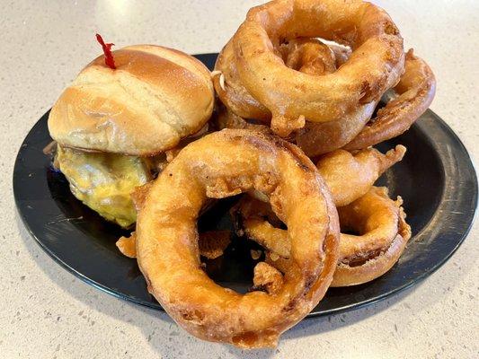
M 372 187 L 350 205 L 338 208 L 342 230 L 359 235 L 341 234 L 340 259 L 332 286 L 366 283 L 395 265 L 411 238 L 402 204 L 401 197 L 393 201 L 387 196 L 387 188 Z M 254 214 L 255 206 L 264 204 L 245 196 L 235 207 L 236 214 L 242 216 L 244 234 L 269 250 L 266 262 L 282 270 L 290 260 L 288 232 Z

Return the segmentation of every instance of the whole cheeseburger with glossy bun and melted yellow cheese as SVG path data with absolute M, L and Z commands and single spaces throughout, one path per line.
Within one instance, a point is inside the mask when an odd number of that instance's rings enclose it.
M 106 45 L 60 95 L 49 133 L 73 195 L 128 228 L 137 217 L 131 193 L 155 178 L 168 150 L 204 129 L 214 89 L 208 68 L 181 51 Z

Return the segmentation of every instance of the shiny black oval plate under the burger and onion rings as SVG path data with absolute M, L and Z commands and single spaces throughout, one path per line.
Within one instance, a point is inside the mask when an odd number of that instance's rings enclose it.
M 217 54 L 197 56 L 209 68 Z M 120 254 L 115 241 L 126 234 L 107 223 L 70 193 L 67 180 L 53 171 L 42 149 L 51 141 L 46 113 L 31 129 L 18 153 L 13 192 L 31 236 L 61 266 L 107 293 L 162 309 L 146 292 L 137 262 Z M 475 216 L 477 180 L 466 148 L 452 130 L 428 110 L 403 136 L 379 145 L 381 151 L 404 144 L 403 162 L 379 180 L 390 195 L 401 195 L 412 226 L 412 240 L 385 276 L 366 285 L 332 288 L 309 315 L 323 315 L 377 302 L 397 293 L 441 266 L 466 238 Z M 218 203 L 199 223 L 200 231 L 230 228 L 230 198 Z M 244 293 L 252 282 L 251 241 L 235 239 L 222 258 L 208 262 L 209 275 Z

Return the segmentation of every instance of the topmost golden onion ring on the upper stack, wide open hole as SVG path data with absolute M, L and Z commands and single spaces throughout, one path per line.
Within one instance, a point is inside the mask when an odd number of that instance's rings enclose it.
M 320 4 L 320 5 L 319 5 Z M 321 37 L 350 46 L 333 74 L 302 74 L 285 66 L 275 48 L 284 39 Z M 339 120 L 394 86 L 404 71 L 403 39 L 386 12 L 353 0 L 278 0 L 253 7 L 233 37 L 237 74 L 271 111 L 279 136 L 311 122 Z

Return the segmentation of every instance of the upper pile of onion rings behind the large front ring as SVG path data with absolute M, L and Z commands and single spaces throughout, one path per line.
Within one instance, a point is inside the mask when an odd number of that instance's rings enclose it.
M 250 10 L 217 59 L 219 99 L 231 115 L 271 126 L 308 156 L 400 135 L 434 97 L 429 66 L 412 50 L 404 57 L 399 31 L 377 6 L 316 3 L 279 0 Z M 371 119 L 393 88 L 398 97 Z

